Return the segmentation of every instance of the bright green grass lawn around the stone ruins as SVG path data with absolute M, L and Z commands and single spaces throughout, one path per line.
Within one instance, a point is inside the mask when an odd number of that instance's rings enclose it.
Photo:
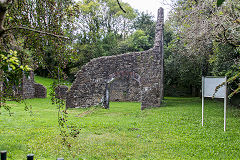
M 41 81 L 38 77 L 36 81 Z M 46 81 L 43 82 L 46 85 Z M 140 110 L 140 103 L 112 102 L 110 109 L 69 109 L 68 123 L 81 128 L 63 146 L 57 107 L 50 98 L 9 102 L 12 116 L 1 109 L 0 150 L 8 159 L 240 159 L 240 109 L 228 107 L 223 131 L 223 102 L 206 100 L 201 126 L 200 98 L 165 98 L 164 106 Z

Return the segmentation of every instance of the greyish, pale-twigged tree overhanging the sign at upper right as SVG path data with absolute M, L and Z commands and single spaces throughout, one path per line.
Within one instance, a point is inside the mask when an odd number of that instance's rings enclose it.
M 220 5 L 219 5 L 220 6 Z M 229 77 L 228 82 L 236 81 L 239 78 L 239 2 L 237 0 L 226 1 L 217 7 L 216 1 L 178 1 L 171 14 L 173 32 L 177 39 L 186 48 L 185 55 L 198 55 L 202 57 L 202 75 L 214 74 L 212 64 L 219 63 L 221 57 L 231 55 L 220 52 L 220 46 L 230 48 L 235 53 L 231 56 L 229 63 L 230 70 L 225 70 L 224 74 L 231 71 L 235 73 Z M 217 53 L 218 52 L 218 53 Z M 223 55 L 223 56 L 220 56 Z M 224 61 L 224 59 L 222 59 Z M 215 65 L 216 66 L 216 65 Z M 234 67 L 235 66 L 235 67 Z M 237 67 L 236 67 L 237 66 Z M 232 68 L 232 69 L 231 69 Z M 238 70 L 238 71 L 234 71 Z M 213 71 L 212 71 L 213 70 Z M 216 70 L 216 68 L 215 68 Z M 239 92 L 237 87 L 234 93 Z

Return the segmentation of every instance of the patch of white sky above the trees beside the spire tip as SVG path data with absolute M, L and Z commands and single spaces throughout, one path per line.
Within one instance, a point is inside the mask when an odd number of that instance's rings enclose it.
M 168 12 L 170 11 L 169 5 L 163 5 L 163 1 L 166 3 L 171 3 L 171 0 L 121 0 L 122 2 L 127 2 L 134 9 L 139 11 L 144 11 L 147 13 L 152 13 L 152 15 L 157 18 L 157 10 L 160 7 L 164 8 L 164 19 L 167 19 Z M 120 2 L 121 2 L 120 1 Z

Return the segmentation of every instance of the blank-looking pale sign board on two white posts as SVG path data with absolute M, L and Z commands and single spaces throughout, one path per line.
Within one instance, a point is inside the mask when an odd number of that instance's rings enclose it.
M 218 88 L 217 92 L 216 88 Z M 202 126 L 204 124 L 204 97 L 224 98 L 224 131 L 226 131 L 227 77 L 202 77 Z

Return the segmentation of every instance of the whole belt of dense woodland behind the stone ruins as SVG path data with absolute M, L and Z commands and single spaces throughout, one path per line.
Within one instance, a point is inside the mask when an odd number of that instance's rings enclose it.
M 240 3 L 216 3 L 172 4 L 164 31 L 167 96 L 199 96 L 201 77 L 211 75 L 228 77 L 229 97 L 239 93 Z M 9 86 L 30 68 L 73 81 L 93 58 L 153 46 L 153 16 L 121 2 L 124 13 L 116 0 L 2 0 L 0 5 L 0 78 Z

